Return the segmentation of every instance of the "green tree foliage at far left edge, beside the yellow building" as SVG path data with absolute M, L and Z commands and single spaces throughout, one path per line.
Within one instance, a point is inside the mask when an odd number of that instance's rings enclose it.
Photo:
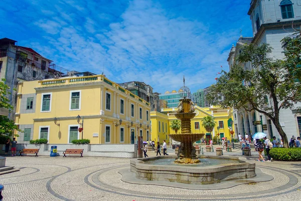
M 0 108 L 11 111 L 14 109 L 14 107 L 10 105 L 10 100 L 7 97 L 7 95 L 10 94 L 9 89 L 10 87 L 5 84 L 5 79 L 2 79 L 2 81 L 0 81 Z M 14 121 L 10 120 L 7 116 L 0 115 L 0 135 L 12 137 L 15 129 L 23 132 L 22 130 L 18 129 L 18 126 Z M 18 137 L 18 135 L 15 136 Z

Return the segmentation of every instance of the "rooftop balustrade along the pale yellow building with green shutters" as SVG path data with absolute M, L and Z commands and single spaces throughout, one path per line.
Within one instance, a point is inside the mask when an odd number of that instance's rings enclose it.
M 149 106 L 149 103 L 146 102 L 146 100 L 141 99 L 137 95 L 134 95 L 129 90 L 124 89 L 119 84 L 110 81 L 109 79 L 105 78 L 103 75 L 93 75 L 93 76 L 85 76 L 85 77 L 67 77 L 67 78 L 61 78 L 61 79 L 42 80 L 42 81 L 39 81 L 39 84 L 40 84 L 40 87 L 46 87 L 46 86 L 66 85 L 66 84 L 75 84 L 75 83 L 84 83 L 84 82 L 98 82 L 98 81 L 103 81 L 106 84 L 110 85 L 111 87 L 116 88 L 117 90 L 122 91 L 126 95 L 135 98 L 136 100 L 145 104 L 146 106 Z

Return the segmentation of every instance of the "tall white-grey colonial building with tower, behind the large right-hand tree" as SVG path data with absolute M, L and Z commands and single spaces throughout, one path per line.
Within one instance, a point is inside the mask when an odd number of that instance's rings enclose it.
M 240 49 L 245 44 L 260 45 L 263 43 L 269 44 L 273 51 L 270 57 L 276 59 L 284 58 L 281 39 L 290 36 L 295 30 L 300 29 L 301 25 L 301 1 L 300 0 L 252 0 L 248 11 L 252 22 L 253 37 L 240 37 L 236 46 L 230 50 L 228 57 L 229 68 L 231 69 L 234 58 L 240 53 Z M 250 62 L 244 64 L 245 69 L 251 69 Z M 268 100 L 270 104 L 270 100 Z M 301 103 L 295 105 L 301 107 Z M 258 112 L 247 112 L 243 109 L 233 110 L 234 129 L 236 135 L 254 134 L 257 131 L 262 131 L 260 125 L 253 125 L 252 121 L 260 121 L 262 116 L 263 124 L 267 125 L 267 131 L 264 131 L 271 138 L 280 136 L 268 117 Z M 280 124 L 282 129 L 290 139 L 291 136 L 301 135 L 301 114 L 296 114 L 295 110 L 281 109 Z

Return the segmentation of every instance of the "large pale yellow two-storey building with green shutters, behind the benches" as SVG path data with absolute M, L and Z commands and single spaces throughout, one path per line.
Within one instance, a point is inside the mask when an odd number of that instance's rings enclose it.
M 137 136 L 150 138 L 149 103 L 103 75 L 19 82 L 17 97 L 15 121 L 24 130 L 18 132 L 18 143 L 90 139 L 91 144 L 134 144 Z

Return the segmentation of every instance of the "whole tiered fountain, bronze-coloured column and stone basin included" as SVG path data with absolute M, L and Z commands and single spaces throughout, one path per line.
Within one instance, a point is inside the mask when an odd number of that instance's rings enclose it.
M 181 142 L 178 155 L 131 159 L 130 171 L 135 173 L 136 178 L 187 184 L 212 184 L 256 176 L 255 163 L 244 158 L 209 154 L 199 155 L 200 159 L 198 158 L 193 142 L 203 138 L 204 134 L 191 133 L 191 119 L 196 114 L 191 99 L 187 98 L 190 96 L 190 90 L 185 86 L 185 81 L 180 89 L 180 95 L 183 99 L 180 100 L 175 116 L 181 120 L 182 133 L 169 135 Z M 132 175 L 128 175 L 121 180 L 131 182 L 131 178 Z

